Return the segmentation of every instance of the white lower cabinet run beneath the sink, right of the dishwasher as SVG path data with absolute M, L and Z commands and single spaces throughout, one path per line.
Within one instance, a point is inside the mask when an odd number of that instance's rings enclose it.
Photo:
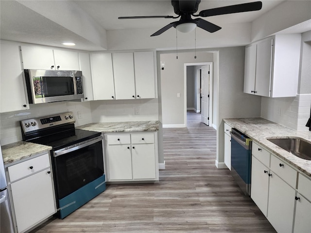
M 251 198 L 278 233 L 311 232 L 311 179 L 255 142 Z

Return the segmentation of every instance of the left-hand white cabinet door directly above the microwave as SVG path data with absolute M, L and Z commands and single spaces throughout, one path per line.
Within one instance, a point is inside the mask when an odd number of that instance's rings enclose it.
M 55 69 L 52 49 L 21 46 L 24 69 Z

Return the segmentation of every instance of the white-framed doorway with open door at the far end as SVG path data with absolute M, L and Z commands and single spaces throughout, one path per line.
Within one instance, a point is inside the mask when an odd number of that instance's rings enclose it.
M 201 113 L 201 122 L 212 125 L 212 75 L 212 62 L 184 64 L 186 127 L 187 110 Z

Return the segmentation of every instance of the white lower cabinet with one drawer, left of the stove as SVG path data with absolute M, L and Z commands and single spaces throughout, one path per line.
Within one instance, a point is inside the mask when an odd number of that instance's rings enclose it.
M 8 167 L 10 178 L 18 178 L 15 174 L 18 170 L 23 173 L 20 179 L 9 183 L 18 233 L 28 231 L 56 213 L 52 169 L 45 161 L 49 161 L 49 154 Z

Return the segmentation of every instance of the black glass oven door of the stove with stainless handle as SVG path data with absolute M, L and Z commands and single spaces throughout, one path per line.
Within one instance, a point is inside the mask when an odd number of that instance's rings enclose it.
M 102 136 L 53 152 L 57 198 L 62 199 L 104 174 Z

